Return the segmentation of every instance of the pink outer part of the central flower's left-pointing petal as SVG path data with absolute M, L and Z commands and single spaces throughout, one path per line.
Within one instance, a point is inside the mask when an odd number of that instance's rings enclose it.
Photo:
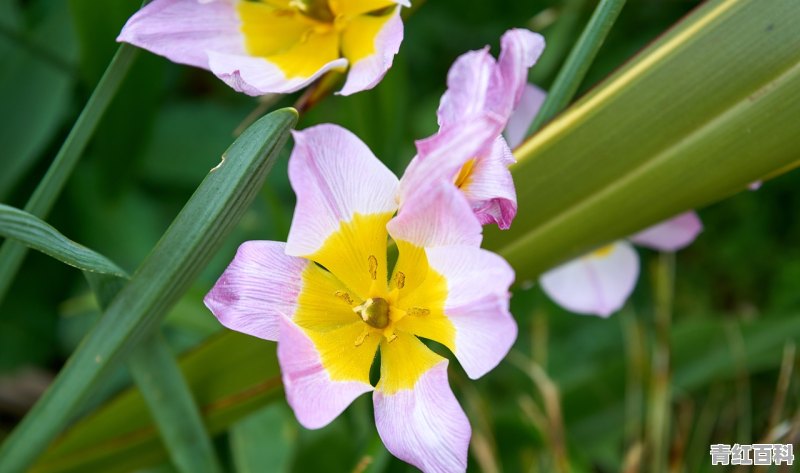
M 203 299 L 220 323 L 265 340 L 278 340 L 281 317 L 292 317 L 307 260 L 287 256 L 284 244 L 247 241 Z

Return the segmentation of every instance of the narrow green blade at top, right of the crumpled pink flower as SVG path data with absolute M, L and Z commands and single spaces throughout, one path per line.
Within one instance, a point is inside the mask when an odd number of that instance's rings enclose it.
M 624 5 L 625 0 L 600 0 L 597 4 L 589 23 L 553 81 L 542 108 L 528 129 L 528 135 L 533 134 L 572 100 Z

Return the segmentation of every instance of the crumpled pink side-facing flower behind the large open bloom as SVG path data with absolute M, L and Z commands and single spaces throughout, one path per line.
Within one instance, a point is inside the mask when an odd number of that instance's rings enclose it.
M 439 132 L 417 142 L 418 155 L 400 183 L 401 201 L 420 189 L 421 182 L 448 180 L 467 197 L 482 224 L 496 223 L 503 229 L 511 225 L 517 195 L 508 166 L 515 161 L 501 133 L 522 100 L 528 69 L 542 54 L 544 39 L 512 29 L 503 35 L 501 46 L 497 60 L 486 47 L 463 54 L 450 67 L 438 110 Z M 485 124 L 476 126 L 479 120 Z M 463 128 L 483 139 L 478 151 L 470 156 L 440 153 L 439 148 Z

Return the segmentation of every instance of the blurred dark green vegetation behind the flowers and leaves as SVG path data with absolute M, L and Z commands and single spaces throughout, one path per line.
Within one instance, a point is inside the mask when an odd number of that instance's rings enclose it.
M 139 3 L 0 0 L 0 202 L 24 205 Z M 630 0 L 582 90 L 697 3 Z M 497 53 L 505 30 L 529 27 L 547 40 L 531 74 L 547 89 L 594 5 L 417 0 L 385 80 L 369 92 L 326 98 L 301 117 L 299 127 L 343 125 L 401 174 L 414 153 L 413 140 L 436 129 L 447 69 L 459 54 L 485 44 Z M 283 97 L 275 107 L 296 99 Z M 141 53 L 48 221 L 135 269 L 258 107 L 258 100 L 236 94 L 206 71 Z M 704 232 L 674 260 L 671 323 L 657 315 L 654 287 L 659 270 L 673 261 L 647 251 L 640 250 L 642 277 L 634 297 L 608 320 L 569 314 L 538 288 L 518 288 L 512 311 L 520 336 L 508 360 L 477 382 L 451 364 L 451 384 L 473 425 L 470 467 L 611 472 L 641 460 L 639 471 L 651 471 L 647 456 L 640 457 L 657 402 L 658 369 L 651 367 L 659 353 L 671 358 L 672 398 L 670 434 L 658 448 L 668 452 L 673 471 L 712 471 L 711 443 L 787 443 L 771 440 L 779 434 L 789 438 L 786 432 L 796 442 L 798 188 L 796 171 L 757 192 L 700 209 Z M 168 317 L 165 332 L 176 353 L 222 330 L 202 296 L 242 241 L 285 240 L 293 208 L 284 157 L 237 231 Z M 0 305 L 0 438 L 97 316 L 78 271 L 28 255 Z M 129 386 L 125 371 L 115 373 L 95 404 Z M 374 445 L 371 415 L 364 396 L 330 426 L 306 431 L 279 397 L 215 442 L 240 471 L 352 471 L 365 452 L 374 460 L 373 471 L 411 469 Z

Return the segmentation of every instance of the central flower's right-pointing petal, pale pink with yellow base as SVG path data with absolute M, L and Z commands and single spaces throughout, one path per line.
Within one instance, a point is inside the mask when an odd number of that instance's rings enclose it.
M 479 378 L 500 363 L 517 338 L 508 310 L 514 271 L 479 248 L 428 248 L 425 254 L 430 269 L 424 284 L 401 290 L 398 305 L 430 313 L 406 316 L 397 328 L 447 346 L 467 375 Z

